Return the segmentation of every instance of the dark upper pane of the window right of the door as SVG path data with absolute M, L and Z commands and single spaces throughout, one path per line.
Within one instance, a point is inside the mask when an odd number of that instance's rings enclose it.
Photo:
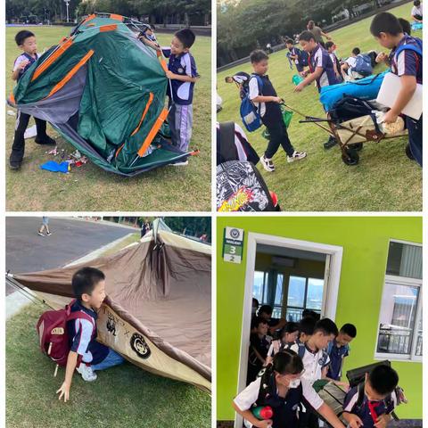
M 393 276 L 422 279 L 422 247 L 391 241 L 386 273 Z

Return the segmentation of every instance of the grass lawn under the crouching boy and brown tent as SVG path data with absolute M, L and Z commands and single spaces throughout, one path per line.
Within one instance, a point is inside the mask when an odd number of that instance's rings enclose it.
M 129 236 L 111 251 L 119 251 L 138 239 L 139 234 Z M 47 309 L 29 304 L 6 323 L 8 428 L 210 427 L 209 394 L 128 362 L 98 372 L 93 383 L 86 383 L 76 373 L 70 401 L 60 402 L 55 391 L 62 384 L 65 369 L 60 368 L 53 377 L 54 364 L 40 352 L 35 328 L 38 317 Z

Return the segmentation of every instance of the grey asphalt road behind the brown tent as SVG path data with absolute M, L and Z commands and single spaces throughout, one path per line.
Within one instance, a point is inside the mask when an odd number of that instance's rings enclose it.
M 37 217 L 6 217 L 6 270 L 25 273 L 60 268 L 133 232 L 128 227 L 49 218 L 52 235 L 40 236 L 41 223 Z M 6 295 L 14 291 L 6 286 Z

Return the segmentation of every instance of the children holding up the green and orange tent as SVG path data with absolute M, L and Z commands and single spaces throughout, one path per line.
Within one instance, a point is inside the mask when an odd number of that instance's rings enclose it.
M 139 40 L 169 58 L 166 72 L 171 84 L 168 86 L 169 96 L 169 128 L 171 131 L 171 144 L 177 146 L 182 152 L 188 152 L 193 128 L 193 86 L 200 77 L 194 58 L 190 53 L 195 35 L 191 29 L 180 29 L 172 38 L 169 47 L 161 47 L 152 29 L 147 26 L 144 33 L 140 33 Z M 15 36 L 16 45 L 22 53 L 13 63 L 12 80 L 19 81 L 24 73 L 39 58 L 37 53 L 37 40 L 34 33 L 28 29 L 19 31 Z M 13 137 L 12 152 L 9 158 L 10 169 L 20 169 L 25 150 L 25 131 L 29 125 L 30 115 L 20 110 L 17 112 L 15 134 Z M 46 134 L 46 122 L 34 118 L 37 127 L 37 144 L 55 145 L 56 142 Z M 173 166 L 185 166 L 188 161 L 172 163 Z

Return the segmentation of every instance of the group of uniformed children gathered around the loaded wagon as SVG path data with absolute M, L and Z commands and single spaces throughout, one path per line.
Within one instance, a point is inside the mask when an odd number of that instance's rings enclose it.
M 400 45 L 417 45 L 420 42 L 416 37 L 410 36 L 410 28 L 406 20 L 398 19 L 390 12 L 380 12 L 374 16 L 370 26 L 370 31 L 376 41 L 383 47 L 390 49 L 389 55 L 380 53 L 376 58 L 377 62 L 387 62 L 391 66 L 391 72 L 399 76 L 402 83 L 399 89 L 397 101 L 388 111 L 383 122 L 394 123 L 401 114 L 403 108 L 415 93 L 416 83 L 422 84 L 422 55 L 415 51 L 403 50 L 396 55 Z M 352 71 L 353 63 L 360 53 L 359 48 L 352 51 L 349 61 L 341 64 L 334 54 L 335 45 L 333 42 L 327 42 L 325 48 L 317 43 L 314 34 L 305 30 L 299 37 L 300 46 L 304 55 L 294 46 L 292 39 L 287 39 L 285 44 L 288 48 L 287 55 L 295 63 L 300 75 L 305 78 L 294 88 L 294 92 L 302 91 L 314 81 L 316 82 L 318 92 L 322 87 L 342 83 L 343 78 Z M 309 55 L 307 58 L 306 54 Z M 282 146 L 287 155 L 287 161 L 296 161 L 306 158 L 306 152 L 294 150 L 284 121 L 281 116 L 280 103 L 283 103 L 281 97 L 276 94 L 275 87 L 269 80 L 268 72 L 268 54 L 256 50 L 250 55 L 253 74 L 251 75 L 250 99 L 259 111 L 263 124 L 268 128 L 269 142 L 266 152 L 261 156 L 260 161 L 268 172 L 275 170 L 272 161 L 279 146 Z M 305 66 L 309 70 L 305 71 Z M 406 117 L 408 130 L 409 148 L 415 160 L 422 166 L 422 128 L 423 119 L 412 119 Z M 329 149 L 336 144 L 333 136 L 324 144 L 325 149 Z

